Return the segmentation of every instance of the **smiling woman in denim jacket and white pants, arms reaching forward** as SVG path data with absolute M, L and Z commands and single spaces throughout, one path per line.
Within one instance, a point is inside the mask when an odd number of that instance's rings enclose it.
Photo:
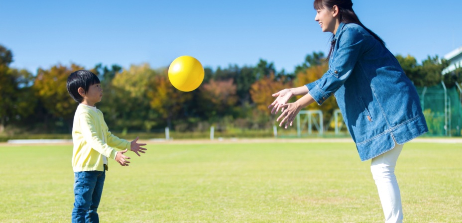
M 321 105 L 334 95 L 361 161 L 372 159 L 371 172 L 386 223 L 402 222 L 401 196 L 394 174 L 405 142 L 428 131 L 414 85 L 383 41 L 367 29 L 352 9 L 351 0 L 315 0 L 315 20 L 333 33 L 329 70 L 313 83 L 284 89 L 273 97 L 272 113 L 281 109 L 285 128 L 300 110 Z M 303 95 L 295 103 L 287 103 Z

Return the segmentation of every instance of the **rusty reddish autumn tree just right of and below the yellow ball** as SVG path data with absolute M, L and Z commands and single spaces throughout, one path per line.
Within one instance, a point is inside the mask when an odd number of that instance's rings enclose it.
M 200 105 L 204 113 L 210 118 L 224 116 L 231 113 L 237 102 L 236 86 L 233 80 L 215 81 L 202 84 L 200 91 Z

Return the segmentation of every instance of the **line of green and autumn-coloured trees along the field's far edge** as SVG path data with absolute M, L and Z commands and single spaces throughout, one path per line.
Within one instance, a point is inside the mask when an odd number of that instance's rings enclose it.
M 442 75 L 449 62 L 438 56 L 419 64 L 410 55 L 397 60 L 415 86 L 434 86 L 444 81 L 453 87 L 462 81 L 462 69 Z M 201 86 L 192 92 L 176 90 L 169 82 L 168 67 L 151 68 L 149 64 L 97 64 L 85 68 L 77 64 L 57 64 L 39 68 L 36 75 L 10 67 L 13 53 L 0 45 L 0 133 L 70 133 L 77 103 L 66 89 L 70 73 L 87 69 L 101 80 L 103 100 L 96 106 L 105 114 L 111 129 L 117 131 L 153 131 L 166 126 L 177 131 L 206 131 L 215 128 L 263 129 L 275 124 L 275 115 L 267 106 L 271 94 L 284 88 L 313 82 L 328 70 L 323 52 L 313 52 L 293 73 L 277 71 L 272 62 L 260 59 L 255 66 L 229 65 L 215 70 L 205 67 Z M 293 99 L 295 100 L 295 99 Z M 338 109 L 335 97 L 320 109 L 330 120 Z

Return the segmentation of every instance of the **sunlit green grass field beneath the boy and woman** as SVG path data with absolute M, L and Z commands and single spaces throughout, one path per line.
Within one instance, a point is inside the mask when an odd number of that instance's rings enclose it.
M 156 144 L 110 161 L 102 222 L 384 221 L 370 161 L 353 143 Z M 0 146 L 0 222 L 69 222 L 72 145 Z M 398 159 L 405 222 L 462 222 L 461 144 L 407 143 Z

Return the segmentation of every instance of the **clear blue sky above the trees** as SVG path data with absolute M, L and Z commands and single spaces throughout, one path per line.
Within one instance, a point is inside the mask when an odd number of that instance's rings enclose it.
M 418 2 L 418 3 L 416 3 Z M 353 9 L 393 54 L 428 55 L 462 46 L 461 0 L 353 0 Z M 204 66 L 273 62 L 293 72 L 307 54 L 327 52 L 329 33 L 313 0 L 0 0 L 0 44 L 12 67 L 76 63 L 168 66 L 181 55 Z

